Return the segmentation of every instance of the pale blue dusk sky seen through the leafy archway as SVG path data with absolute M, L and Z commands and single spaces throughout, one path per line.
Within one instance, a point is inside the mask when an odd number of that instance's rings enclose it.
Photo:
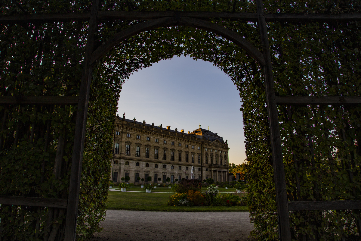
M 161 60 L 130 76 L 122 87 L 118 115 L 162 124 L 185 133 L 199 128 L 228 140 L 229 162 L 244 162 L 243 121 L 239 91 L 212 63 L 191 57 Z

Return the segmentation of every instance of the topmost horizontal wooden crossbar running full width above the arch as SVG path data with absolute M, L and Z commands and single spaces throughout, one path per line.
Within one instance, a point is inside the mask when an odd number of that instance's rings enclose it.
M 257 13 L 230 13 L 230 12 L 183 12 L 177 14 L 180 17 L 199 18 L 209 20 L 211 18 L 224 18 L 229 20 L 258 21 Z M 100 11 L 97 14 L 98 21 L 108 20 L 151 20 L 156 18 L 174 17 L 176 11 Z M 34 13 L 27 15 L 3 15 L 0 23 L 27 23 L 27 22 L 68 22 L 88 21 L 90 13 Z M 274 13 L 265 14 L 267 22 L 332 22 L 332 21 L 355 21 L 361 20 L 360 13 L 353 14 L 299 14 L 299 13 Z

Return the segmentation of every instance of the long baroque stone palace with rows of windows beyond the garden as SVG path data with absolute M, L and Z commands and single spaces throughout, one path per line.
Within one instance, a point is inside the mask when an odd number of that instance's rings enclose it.
M 155 183 L 167 177 L 173 182 L 191 178 L 193 167 L 194 178 L 199 180 L 231 181 L 228 150 L 227 141 L 206 129 L 187 134 L 170 126 L 162 128 L 117 116 L 111 178 L 114 183 L 125 176 L 134 183 L 139 183 L 138 177 L 147 180 L 148 176 Z

